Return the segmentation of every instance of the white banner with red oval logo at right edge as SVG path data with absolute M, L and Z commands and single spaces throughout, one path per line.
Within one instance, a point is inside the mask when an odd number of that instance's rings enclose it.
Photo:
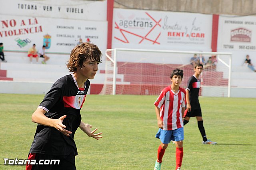
M 255 16 L 220 16 L 218 50 L 256 51 Z

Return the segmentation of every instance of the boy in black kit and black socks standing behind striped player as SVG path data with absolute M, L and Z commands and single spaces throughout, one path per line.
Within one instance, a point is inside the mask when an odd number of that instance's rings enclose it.
M 200 103 L 198 100 L 199 89 L 200 89 L 200 79 L 199 76 L 203 71 L 203 65 L 198 63 L 194 67 L 194 75 L 188 79 L 188 87 L 186 88 L 186 110 L 184 113 L 184 126 L 188 123 L 190 117 L 196 117 L 198 128 L 202 135 L 202 144 L 217 144 L 217 142 L 212 142 L 210 139 L 206 138 L 206 133 L 204 130 L 202 111 Z

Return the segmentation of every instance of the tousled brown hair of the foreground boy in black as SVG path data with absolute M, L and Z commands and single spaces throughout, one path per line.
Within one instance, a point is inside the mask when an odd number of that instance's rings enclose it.
M 82 68 L 83 63 L 89 59 L 101 63 L 101 55 L 97 45 L 90 42 L 81 43 L 72 49 L 67 67 L 69 71 L 76 72 L 77 68 Z

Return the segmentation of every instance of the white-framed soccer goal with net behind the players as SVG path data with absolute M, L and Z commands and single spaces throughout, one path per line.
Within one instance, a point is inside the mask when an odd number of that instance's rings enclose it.
M 120 48 L 106 50 L 105 80 L 100 94 L 159 95 L 171 84 L 170 74 L 176 68 L 184 71 L 180 87 L 185 89 L 194 74 L 190 63 L 194 54 L 204 65 L 200 95 L 230 97 L 232 53 Z

